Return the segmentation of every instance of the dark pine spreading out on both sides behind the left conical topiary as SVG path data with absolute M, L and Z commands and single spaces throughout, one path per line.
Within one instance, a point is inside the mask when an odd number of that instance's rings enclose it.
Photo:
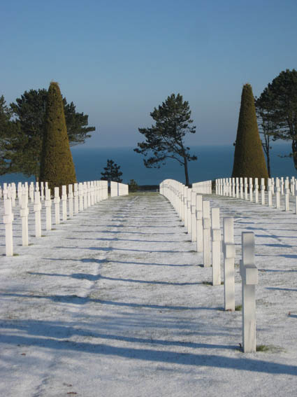
M 8 135 L 6 146 L 1 145 L 3 158 L 10 162 L 10 167 L 1 167 L 0 172 L 22 172 L 24 175 L 36 176 L 40 173 L 41 150 L 43 142 L 45 107 L 48 91 L 25 91 L 15 103 L 10 104 L 12 116 L 18 124 L 17 134 Z M 75 111 L 73 102 L 68 104 L 63 98 L 64 114 L 68 139 L 71 146 L 83 144 L 89 138 L 88 132 L 94 127 L 87 127 L 88 116 Z M 2 155 L 2 153 L 1 153 Z

